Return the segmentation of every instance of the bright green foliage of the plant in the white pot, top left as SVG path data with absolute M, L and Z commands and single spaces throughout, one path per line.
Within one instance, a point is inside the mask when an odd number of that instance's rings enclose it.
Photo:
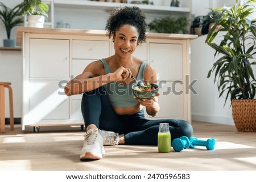
M 20 15 L 45 15 L 49 11 L 49 6 L 42 2 L 42 0 L 24 0 L 19 5 L 21 12 Z

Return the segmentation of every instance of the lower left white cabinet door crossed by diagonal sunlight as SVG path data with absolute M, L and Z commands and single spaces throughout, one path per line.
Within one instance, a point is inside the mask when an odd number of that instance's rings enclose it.
M 30 81 L 27 86 L 30 98 L 26 122 L 69 118 L 69 98 L 59 81 Z

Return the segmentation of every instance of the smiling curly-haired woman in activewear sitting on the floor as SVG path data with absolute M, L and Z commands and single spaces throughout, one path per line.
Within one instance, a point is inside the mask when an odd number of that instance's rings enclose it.
M 115 8 L 106 30 L 114 43 L 114 55 L 90 63 L 65 87 L 68 96 L 84 93 L 81 111 L 86 134 L 80 160 L 101 159 L 104 145 L 157 145 L 160 122 L 168 122 L 172 139 L 191 137 L 193 129 L 187 121 L 144 117 L 143 106 L 150 116 L 159 112 L 159 94 L 143 100 L 132 94 L 131 75 L 147 83 L 157 81 L 155 70 L 146 61 L 132 56 L 137 45 L 146 39 L 145 16 L 141 10 Z

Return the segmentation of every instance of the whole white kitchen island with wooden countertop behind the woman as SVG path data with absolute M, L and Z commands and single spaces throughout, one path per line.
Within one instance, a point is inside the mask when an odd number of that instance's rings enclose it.
M 23 45 L 23 118 L 25 126 L 84 125 L 81 96 L 67 97 L 64 86 L 94 60 L 114 53 L 105 31 L 17 27 Z M 190 39 L 196 35 L 147 33 L 134 56 L 155 68 L 160 84 L 160 112 L 153 118 L 191 121 L 186 90 L 190 74 Z M 146 116 L 149 117 L 149 116 Z

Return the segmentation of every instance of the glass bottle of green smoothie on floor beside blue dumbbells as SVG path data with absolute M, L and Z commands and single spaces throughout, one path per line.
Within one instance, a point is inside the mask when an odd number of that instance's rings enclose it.
M 171 133 L 168 123 L 160 123 L 158 132 L 159 153 L 169 153 L 171 151 Z

